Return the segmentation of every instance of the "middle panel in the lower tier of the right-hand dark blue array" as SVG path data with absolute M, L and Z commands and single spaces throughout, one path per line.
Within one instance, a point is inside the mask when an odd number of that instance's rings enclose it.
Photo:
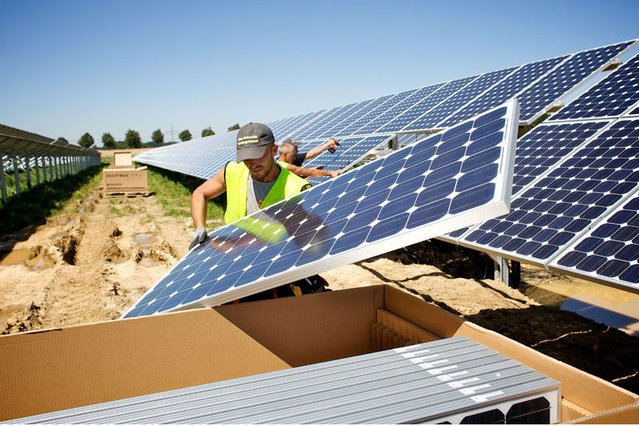
M 460 243 L 532 263 L 550 261 L 639 185 L 639 120 L 620 120 L 513 198 Z

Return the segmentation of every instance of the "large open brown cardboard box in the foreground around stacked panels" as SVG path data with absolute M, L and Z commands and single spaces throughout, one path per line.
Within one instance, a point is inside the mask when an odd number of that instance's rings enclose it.
M 389 286 L 0 337 L 0 420 L 466 336 L 561 382 L 561 421 L 637 423 L 639 396 Z

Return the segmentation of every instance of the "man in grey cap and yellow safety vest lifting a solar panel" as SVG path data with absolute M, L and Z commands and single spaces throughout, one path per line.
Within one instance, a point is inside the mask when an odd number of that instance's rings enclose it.
M 229 161 L 191 196 L 195 234 L 189 250 L 207 239 L 207 201 L 226 192 L 224 221 L 229 224 L 310 188 L 310 184 L 275 161 L 277 145 L 271 129 L 249 123 L 237 133 L 236 162 Z M 319 275 L 241 299 L 259 300 L 313 293 L 325 289 Z

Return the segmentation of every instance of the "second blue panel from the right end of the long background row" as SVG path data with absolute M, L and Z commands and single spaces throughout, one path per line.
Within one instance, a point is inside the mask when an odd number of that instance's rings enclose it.
M 522 66 L 514 74 L 502 80 L 495 87 L 462 108 L 452 117 L 449 117 L 442 123 L 438 124 L 438 127 L 452 126 L 459 123 L 461 120 L 465 120 L 468 117 L 472 117 L 475 114 L 479 114 L 482 111 L 493 108 L 495 105 L 499 105 L 500 103 L 512 98 L 528 85 L 548 73 L 566 58 L 567 56 L 561 56 Z

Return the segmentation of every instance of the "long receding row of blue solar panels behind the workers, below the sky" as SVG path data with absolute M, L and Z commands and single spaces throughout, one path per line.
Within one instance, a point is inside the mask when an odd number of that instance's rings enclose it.
M 520 99 L 523 120 L 532 120 L 612 63 L 634 40 L 551 58 L 482 75 L 407 90 L 397 94 L 301 114 L 267 123 L 281 141 L 293 137 L 315 146 L 329 137 L 387 136 L 450 127 L 512 97 Z M 135 157 L 135 161 L 180 173 L 210 178 L 234 159 L 234 133 L 165 147 Z M 366 146 L 371 140 L 367 139 Z M 206 142 L 206 145 L 201 143 Z M 355 153 L 352 151 L 351 153 Z M 362 148 L 362 157 L 367 154 Z M 329 170 L 343 167 L 338 156 L 325 157 Z M 357 163 L 361 157 L 352 163 Z M 331 164 L 332 160 L 336 163 Z

